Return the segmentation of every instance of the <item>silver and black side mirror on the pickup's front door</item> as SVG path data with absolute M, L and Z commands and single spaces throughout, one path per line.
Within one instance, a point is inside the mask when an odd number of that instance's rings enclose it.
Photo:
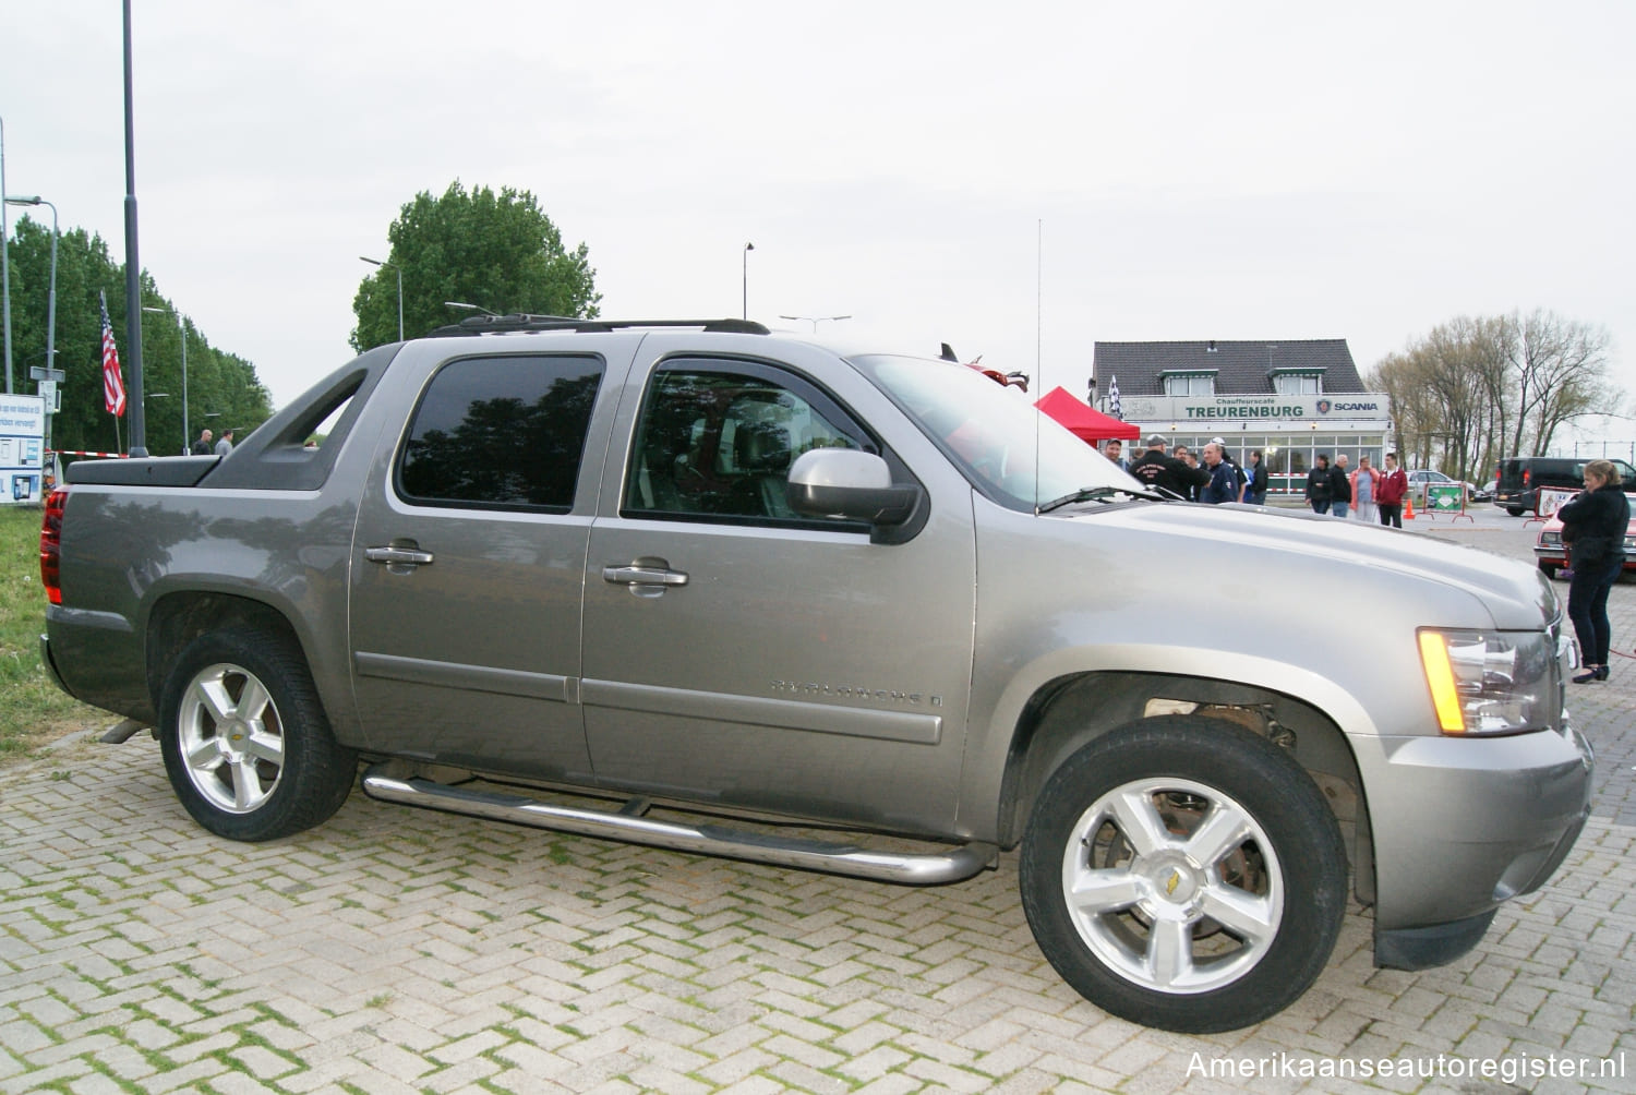
M 869 524 L 877 543 L 901 543 L 926 524 L 926 491 L 893 483 L 885 460 L 856 448 L 803 452 L 790 466 L 785 496 L 803 517 Z

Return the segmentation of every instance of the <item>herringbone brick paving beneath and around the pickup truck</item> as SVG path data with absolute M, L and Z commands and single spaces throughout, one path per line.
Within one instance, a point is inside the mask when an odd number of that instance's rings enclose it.
M 1526 550 L 1521 522 L 1433 532 Z M 1636 642 L 1636 584 L 1615 591 L 1615 633 Z M 187 818 L 146 735 L 80 737 L 0 774 L 0 1093 L 1633 1092 L 1633 709 L 1636 658 L 1575 689 L 1595 818 L 1472 954 L 1376 971 L 1355 907 L 1296 1007 L 1211 1038 L 1068 990 L 1029 936 L 1014 856 L 901 889 L 362 794 L 299 838 L 232 845 Z M 1607 1056 L 1623 1077 L 1279 1075 Z M 1212 1059 L 1271 1072 L 1212 1080 Z

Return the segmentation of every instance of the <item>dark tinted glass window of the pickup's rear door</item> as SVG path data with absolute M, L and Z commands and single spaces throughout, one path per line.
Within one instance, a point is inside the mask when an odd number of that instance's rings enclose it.
M 437 372 L 398 458 L 398 493 L 424 506 L 568 512 L 602 360 L 471 357 Z

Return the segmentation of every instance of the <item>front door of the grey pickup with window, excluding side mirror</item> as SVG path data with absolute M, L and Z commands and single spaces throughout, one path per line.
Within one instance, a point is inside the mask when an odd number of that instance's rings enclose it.
M 648 380 L 622 408 L 631 444 L 610 453 L 587 555 L 592 761 L 656 795 L 946 831 L 972 679 L 970 488 L 885 448 L 867 414 L 895 409 L 851 367 L 787 349 L 811 367 L 638 357 Z M 818 445 L 885 455 L 931 491 L 928 524 L 877 545 L 795 516 L 785 476 Z

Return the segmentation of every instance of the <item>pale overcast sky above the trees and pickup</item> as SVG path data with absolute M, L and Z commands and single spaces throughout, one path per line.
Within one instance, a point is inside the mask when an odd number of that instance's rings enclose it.
M 1099 339 L 1368 370 L 1548 308 L 1636 393 L 1636 3 L 134 8 L 141 262 L 280 406 L 352 355 L 358 255 L 456 178 L 532 192 L 610 318 L 738 316 L 748 259 L 754 319 L 1083 398 Z M 121 5 L 20 16 L 7 190 L 123 260 Z

